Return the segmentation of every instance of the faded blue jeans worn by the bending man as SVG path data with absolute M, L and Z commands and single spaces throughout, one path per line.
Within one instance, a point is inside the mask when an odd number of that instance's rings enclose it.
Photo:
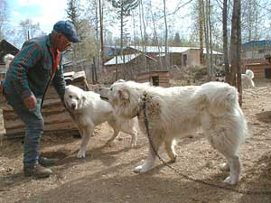
M 25 107 L 13 106 L 14 112 L 21 118 L 25 125 L 23 145 L 23 167 L 33 168 L 39 160 L 40 140 L 44 129 L 40 102 L 35 111 L 31 112 Z

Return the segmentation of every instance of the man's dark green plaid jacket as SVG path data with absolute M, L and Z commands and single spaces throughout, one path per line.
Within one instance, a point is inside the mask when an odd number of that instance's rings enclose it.
M 6 72 L 4 92 L 8 104 L 22 106 L 23 99 L 34 95 L 39 101 L 52 74 L 51 34 L 24 42 Z M 63 100 L 65 79 L 61 60 L 52 84 Z

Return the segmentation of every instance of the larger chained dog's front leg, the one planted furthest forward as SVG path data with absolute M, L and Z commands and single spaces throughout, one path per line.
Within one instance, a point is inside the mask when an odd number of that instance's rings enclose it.
M 134 172 L 136 173 L 143 173 L 153 168 L 154 161 L 156 159 L 156 153 L 158 153 L 158 150 L 163 142 L 163 139 L 160 134 L 155 134 L 154 136 L 151 137 L 151 140 L 149 142 L 150 143 L 148 157 L 143 164 L 135 167 Z

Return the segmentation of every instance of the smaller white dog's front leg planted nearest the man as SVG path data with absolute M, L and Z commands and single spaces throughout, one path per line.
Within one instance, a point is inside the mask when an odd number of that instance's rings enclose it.
M 85 125 L 84 127 L 81 128 L 82 132 L 82 141 L 80 144 L 79 152 L 77 154 L 78 158 L 85 158 L 86 157 L 86 152 L 87 152 L 87 146 L 89 143 L 89 138 L 93 134 L 94 131 L 94 125 Z

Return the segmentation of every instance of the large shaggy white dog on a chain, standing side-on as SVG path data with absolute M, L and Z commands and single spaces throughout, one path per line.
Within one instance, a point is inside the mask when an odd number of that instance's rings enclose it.
M 230 176 L 225 182 L 238 183 L 241 170 L 238 150 L 246 138 L 247 123 L 238 105 L 236 88 L 221 82 L 159 88 L 127 81 L 114 83 L 107 93 L 102 92 L 101 97 L 108 100 L 117 115 L 126 119 L 138 116 L 139 126 L 145 134 L 146 111 L 152 144 L 147 160 L 135 167 L 135 172 L 153 168 L 154 150 L 157 152 L 162 143 L 171 161 L 175 161 L 175 138 L 185 137 L 202 127 L 211 146 L 228 161 L 224 167 L 230 169 Z

